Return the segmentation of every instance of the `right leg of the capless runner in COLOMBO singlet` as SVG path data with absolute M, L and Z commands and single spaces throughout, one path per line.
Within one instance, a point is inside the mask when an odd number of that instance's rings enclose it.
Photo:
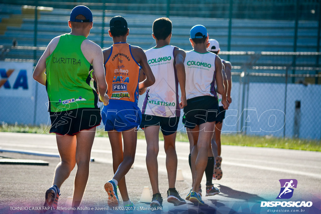
M 164 136 L 164 149 L 166 153 L 166 169 L 169 188 L 175 188 L 177 171 L 177 154 L 175 150 L 176 133 Z

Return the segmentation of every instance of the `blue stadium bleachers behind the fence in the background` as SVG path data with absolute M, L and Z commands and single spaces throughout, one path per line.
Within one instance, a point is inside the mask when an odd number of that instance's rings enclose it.
M 34 8 L 21 5 L 3 4 L 0 15 L 0 40 L 4 47 L 11 47 L 12 40 L 16 39 L 19 46 L 34 46 Z M 67 25 L 70 9 L 44 9 L 38 10 L 37 23 L 37 46 L 46 47 L 50 40 L 63 33 L 70 32 Z M 88 39 L 101 45 L 102 48 L 109 47 L 112 39 L 108 35 L 109 20 L 115 15 L 122 15 L 127 19 L 130 35 L 128 43 L 142 47 L 144 50 L 155 45 L 152 38 L 152 22 L 160 15 L 150 14 L 128 14 L 128 13 L 105 13 L 104 36 L 102 33 L 102 10 L 93 10 L 94 27 Z M 13 19 L 13 20 L 11 20 Z M 189 42 L 189 30 L 196 24 L 207 27 L 210 38 L 220 42 L 221 51 L 227 51 L 228 46 L 228 19 L 200 18 L 170 16 L 173 22 L 173 37 L 171 44 L 185 50 L 192 49 Z M 11 21 L 10 21 L 11 20 Z M 5 23 L 3 23 L 5 22 Z M 293 51 L 294 25 L 291 20 L 255 20 L 255 19 L 233 19 L 231 30 L 231 51 Z M 317 51 L 318 36 L 317 21 L 299 21 L 297 51 Z M 7 59 L 33 59 L 34 51 L 24 49 L 11 49 L 4 52 L 2 58 Z M 42 55 L 43 50 L 37 50 L 36 59 Z M 225 56 L 226 57 L 226 56 Z M 301 59 L 301 60 L 300 60 Z M 297 66 L 311 66 L 315 64 L 316 57 L 299 57 Z M 230 60 L 233 65 L 242 66 L 249 61 L 249 56 L 232 55 Z M 286 66 L 291 64 L 292 56 L 278 57 L 265 56 L 257 60 L 257 66 Z M 235 70 L 238 71 L 237 69 Z

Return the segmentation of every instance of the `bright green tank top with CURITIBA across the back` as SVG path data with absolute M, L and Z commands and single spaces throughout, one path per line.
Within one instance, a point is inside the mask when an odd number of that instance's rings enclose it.
M 92 66 L 80 48 L 85 39 L 84 36 L 61 35 L 57 47 L 46 59 L 49 112 L 98 108 Z

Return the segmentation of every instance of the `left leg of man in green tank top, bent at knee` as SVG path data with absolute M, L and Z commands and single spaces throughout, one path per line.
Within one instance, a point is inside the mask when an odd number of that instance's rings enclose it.
M 52 184 L 60 188 L 76 165 L 76 136 L 56 134 L 56 140 L 61 162 L 56 167 Z

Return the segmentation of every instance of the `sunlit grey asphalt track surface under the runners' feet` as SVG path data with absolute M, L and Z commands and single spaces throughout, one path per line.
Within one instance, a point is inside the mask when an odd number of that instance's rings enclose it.
M 56 138 L 53 134 L 0 132 L 0 148 L 58 153 Z M 189 144 L 176 142 L 176 150 L 178 168 L 182 169 L 184 176 L 184 181 L 176 182 L 176 189 L 182 194 L 182 198 L 185 198 L 192 183 L 188 165 Z M 42 207 L 45 192 L 51 186 L 59 158 L 9 152 L 2 152 L 0 156 L 40 159 L 49 162 L 49 166 L 0 165 L 0 213 L 39 213 L 39 211 L 30 210 L 17 211 L 10 207 Z M 205 197 L 206 179 L 204 175 L 202 199 L 206 205 L 194 206 L 187 201 L 186 205 L 174 207 L 166 201 L 168 189 L 166 154 L 163 141 L 160 141 L 158 165 L 160 192 L 164 198 L 162 213 L 269 213 L 270 208 L 261 208 L 260 204 L 261 201 L 278 201 L 275 198 L 280 192 L 279 179 L 298 180 L 292 198 L 284 201 L 313 202 L 315 209 L 310 208 L 303 212 L 299 210 L 297 213 L 320 213 L 321 152 L 222 145 L 221 156 L 223 177 L 221 180 L 213 180 L 214 186 L 218 187 L 221 193 Z M 95 161 L 90 165 L 90 176 L 81 205 L 93 209 L 106 208 L 108 207 L 107 193 L 104 190 L 104 184 L 113 176 L 108 138 L 95 138 L 91 157 Z M 142 210 L 149 208 L 149 204 L 139 202 L 144 186 L 149 186 L 152 194 L 145 158 L 146 141 L 138 140 L 134 168 L 126 175 L 129 197 L 136 206 L 134 213 L 150 212 Z M 72 196 L 75 172 L 76 169 L 61 186 L 58 207 L 65 207 L 67 197 Z M 121 196 L 119 199 L 122 205 Z M 114 210 L 82 211 L 82 213 L 106 212 L 124 213 Z M 57 213 L 66 212 L 58 211 Z

